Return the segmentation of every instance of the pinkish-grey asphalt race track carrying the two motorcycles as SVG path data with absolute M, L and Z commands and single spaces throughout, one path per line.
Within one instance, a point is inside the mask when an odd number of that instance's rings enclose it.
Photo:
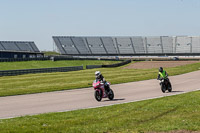
M 173 86 L 171 93 L 162 93 L 156 79 L 111 85 L 115 93 L 112 101 L 105 98 L 97 102 L 93 88 L 0 97 L 0 119 L 95 108 L 186 93 L 200 88 L 199 77 L 200 71 L 169 77 Z

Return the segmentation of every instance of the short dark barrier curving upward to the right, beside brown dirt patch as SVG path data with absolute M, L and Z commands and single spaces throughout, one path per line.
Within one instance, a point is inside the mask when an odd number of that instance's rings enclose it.
M 102 68 L 102 67 L 119 67 L 119 66 L 123 66 L 129 63 L 131 63 L 131 60 L 126 60 L 124 62 L 111 64 L 111 65 L 87 65 L 86 69 Z

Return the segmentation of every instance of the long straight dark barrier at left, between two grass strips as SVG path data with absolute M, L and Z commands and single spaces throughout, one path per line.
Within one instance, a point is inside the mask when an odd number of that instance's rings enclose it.
M 0 76 L 14 76 L 14 75 L 22 75 L 30 73 L 68 72 L 68 71 L 78 71 L 78 70 L 83 70 L 83 66 L 6 70 L 6 71 L 0 71 Z

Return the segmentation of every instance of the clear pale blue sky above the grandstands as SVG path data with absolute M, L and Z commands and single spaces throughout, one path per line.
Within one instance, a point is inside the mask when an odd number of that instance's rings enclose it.
M 52 36 L 200 35 L 200 0 L 0 0 L 0 41 Z

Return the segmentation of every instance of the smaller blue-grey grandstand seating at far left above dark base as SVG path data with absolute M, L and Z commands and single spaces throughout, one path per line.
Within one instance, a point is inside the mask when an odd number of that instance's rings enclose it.
M 40 52 L 34 42 L 0 41 L 0 51 Z

